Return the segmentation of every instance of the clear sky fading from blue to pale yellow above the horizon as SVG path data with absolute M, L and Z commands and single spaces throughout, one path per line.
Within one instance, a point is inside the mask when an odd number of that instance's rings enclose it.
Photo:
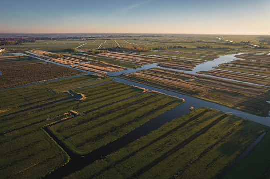
M 0 0 L 0 33 L 270 35 L 270 0 Z

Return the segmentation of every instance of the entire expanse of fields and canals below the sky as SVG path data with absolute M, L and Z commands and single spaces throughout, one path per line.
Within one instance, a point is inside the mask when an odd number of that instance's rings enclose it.
M 81 35 L 1 46 L 0 179 L 270 177 L 268 36 Z

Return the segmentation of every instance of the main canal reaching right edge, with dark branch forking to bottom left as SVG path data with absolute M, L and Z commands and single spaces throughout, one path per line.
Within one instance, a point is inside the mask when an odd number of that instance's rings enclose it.
M 135 130 L 129 132 L 128 134 L 124 135 L 123 137 L 100 147 L 99 149 L 96 149 L 92 151 L 89 154 L 80 156 L 74 154 L 72 151 L 70 151 L 59 139 L 57 139 L 46 127 L 44 130 L 59 144 L 70 156 L 70 161 L 65 166 L 53 171 L 49 175 L 45 176 L 44 179 L 51 179 L 51 178 L 62 178 L 65 177 L 73 172 L 76 172 L 83 167 L 86 167 L 87 165 L 93 163 L 96 160 L 101 160 L 106 155 L 111 154 L 112 152 L 115 152 L 116 150 L 126 146 L 127 144 L 135 141 L 136 139 L 139 139 L 140 137 L 147 135 L 148 133 L 158 129 L 163 124 L 170 122 L 171 120 L 181 117 L 182 115 L 185 115 L 190 112 L 189 107 L 193 106 L 195 108 L 206 106 L 209 108 L 218 109 L 227 113 L 231 113 L 240 117 L 248 118 L 252 121 L 265 124 L 270 126 L 270 117 L 259 117 L 254 116 L 251 114 L 247 114 L 245 112 L 240 112 L 225 106 L 221 106 L 215 103 L 207 102 L 201 99 L 185 96 L 182 94 L 178 94 L 175 92 L 167 91 L 164 89 L 158 89 L 155 87 L 142 85 L 136 82 L 131 82 L 125 79 L 116 78 L 117 81 L 130 84 L 130 85 L 136 85 L 143 88 L 147 88 L 149 90 L 155 90 L 159 92 L 166 93 L 168 95 L 177 96 L 185 99 L 185 102 L 183 104 L 180 104 L 171 110 L 166 111 L 165 113 L 153 118 L 152 120 L 146 122 L 145 124 L 141 125 L 140 127 L 136 128 Z

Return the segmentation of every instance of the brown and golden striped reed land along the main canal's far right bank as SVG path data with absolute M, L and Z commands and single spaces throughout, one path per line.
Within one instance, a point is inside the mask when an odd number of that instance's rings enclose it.
M 267 116 L 269 88 L 241 82 L 153 68 L 122 74 L 121 78 L 192 95 L 238 110 Z M 236 100 L 237 99 L 237 100 Z

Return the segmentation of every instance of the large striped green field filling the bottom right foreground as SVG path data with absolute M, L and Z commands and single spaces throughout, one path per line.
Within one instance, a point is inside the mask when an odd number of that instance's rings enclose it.
M 224 174 L 262 135 L 243 161 Z M 269 127 L 202 107 L 65 179 L 210 179 L 221 174 L 228 179 L 238 179 L 243 174 L 259 179 L 269 175 L 269 138 Z M 261 155 L 260 151 L 266 152 Z

